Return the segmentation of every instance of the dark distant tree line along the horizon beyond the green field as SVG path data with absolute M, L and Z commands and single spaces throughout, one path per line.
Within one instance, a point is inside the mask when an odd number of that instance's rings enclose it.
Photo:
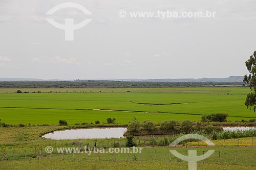
M 139 88 L 243 85 L 243 82 L 0 81 L 0 88 Z

